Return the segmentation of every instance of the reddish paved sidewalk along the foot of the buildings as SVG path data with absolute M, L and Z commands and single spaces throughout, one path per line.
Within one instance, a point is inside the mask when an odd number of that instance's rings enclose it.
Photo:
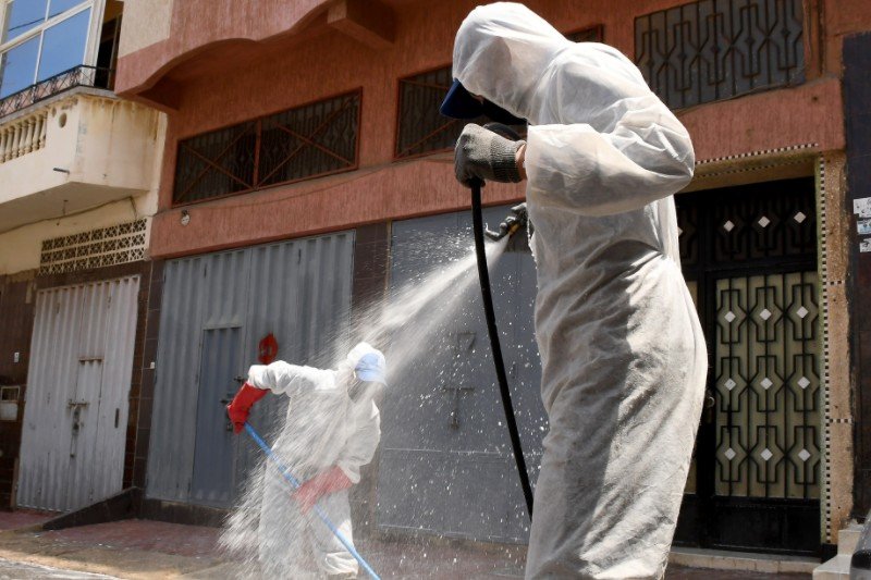
M 150 520 L 124 520 L 57 531 L 34 526 L 48 516 L 0 511 L 0 580 L 51 578 L 27 576 L 27 565 L 124 579 L 238 578 L 242 570 L 225 562 L 217 546 L 220 530 Z M 383 578 L 483 579 L 522 578 L 524 552 L 518 547 L 457 546 L 447 542 L 361 542 L 361 554 Z M 12 567 L 21 576 L 3 571 Z M 17 563 L 17 564 L 16 564 Z M 15 568 L 19 566 L 19 568 Z M 38 568 L 36 568 L 38 570 Z M 4 576 L 5 573 L 5 576 Z M 36 573 L 36 572 L 34 572 Z M 54 576 L 53 578 L 81 578 Z M 670 566 L 667 580 L 807 579 L 809 575 L 766 575 Z

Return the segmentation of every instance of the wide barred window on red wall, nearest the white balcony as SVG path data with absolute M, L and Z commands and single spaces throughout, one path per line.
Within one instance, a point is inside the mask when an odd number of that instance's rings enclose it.
M 357 168 L 360 91 L 179 143 L 174 203 L 189 203 Z

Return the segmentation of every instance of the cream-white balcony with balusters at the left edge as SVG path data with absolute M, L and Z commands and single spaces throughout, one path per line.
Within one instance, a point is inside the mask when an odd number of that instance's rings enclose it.
M 0 118 L 0 233 L 145 194 L 158 113 L 79 87 Z

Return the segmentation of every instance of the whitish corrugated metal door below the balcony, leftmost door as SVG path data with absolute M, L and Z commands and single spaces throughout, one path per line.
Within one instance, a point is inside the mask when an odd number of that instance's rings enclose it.
M 20 506 L 70 510 L 122 486 L 139 277 L 40 291 Z

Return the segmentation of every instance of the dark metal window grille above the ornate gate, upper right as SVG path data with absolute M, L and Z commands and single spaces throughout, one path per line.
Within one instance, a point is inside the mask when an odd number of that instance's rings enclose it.
M 703 0 L 635 20 L 635 60 L 674 109 L 805 81 L 801 0 Z

